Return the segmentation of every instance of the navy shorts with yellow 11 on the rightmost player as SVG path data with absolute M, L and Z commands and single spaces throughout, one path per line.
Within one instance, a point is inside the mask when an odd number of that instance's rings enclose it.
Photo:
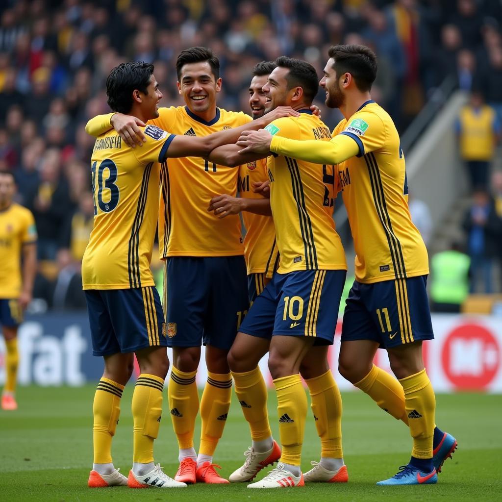
M 374 340 L 381 348 L 432 340 L 427 276 L 373 284 L 354 281 L 343 314 L 341 341 Z

